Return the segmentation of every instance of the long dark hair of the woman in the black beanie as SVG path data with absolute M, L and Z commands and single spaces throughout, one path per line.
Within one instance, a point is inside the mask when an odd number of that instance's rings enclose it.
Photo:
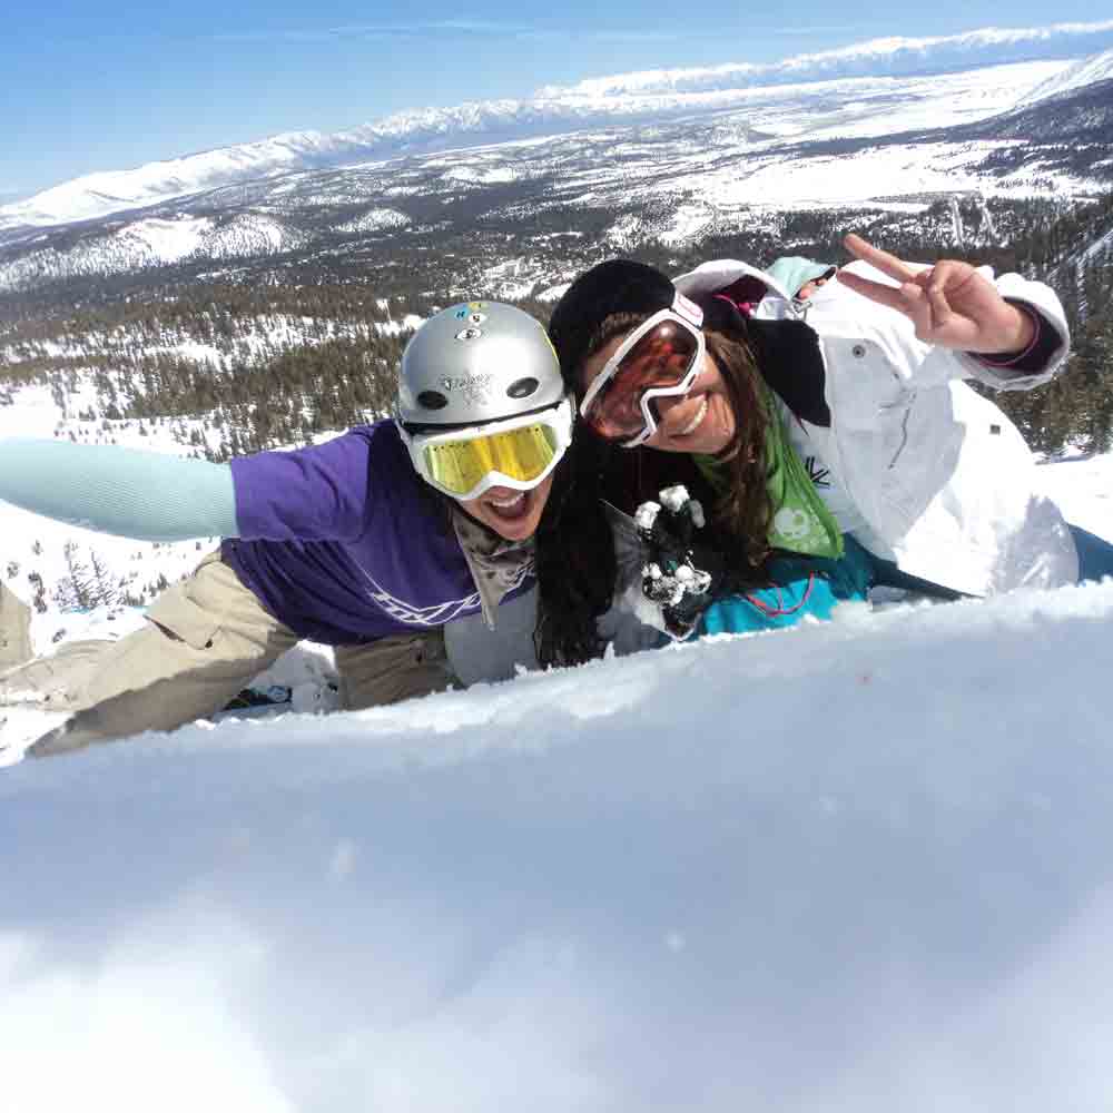
M 610 524 L 602 500 L 630 511 L 654 498 L 652 482 L 683 481 L 710 499 L 712 536 L 727 556 L 739 589 L 767 582 L 769 522 L 772 508 L 766 484 L 766 406 L 762 381 L 746 338 L 745 319 L 708 306 L 708 352 L 722 374 L 735 414 L 735 434 L 719 455 L 726 486 L 709 494 L 691 457 L 651 449 L 626 450 L 599 440 L 578 424 L 572 446 L 556 472 L 536 535 L 538 628 L 534 641 L 542 664 L 577 664 L 602 649 L 595 620 L 610 605 L 617 567 Z M 733 314 L 731 316 L 731 313 Z M 624 335 L 644 314 L 613 313 L 592 332 L 583 358 Z M 565 368 L 565 385 L 582 395 L 581 367 Z M 669 457 L 668 461 L 660 457 Z M 657 457 L 652 460 L 650 457 Z M 670 479 L 658 476 L 668 467 Z

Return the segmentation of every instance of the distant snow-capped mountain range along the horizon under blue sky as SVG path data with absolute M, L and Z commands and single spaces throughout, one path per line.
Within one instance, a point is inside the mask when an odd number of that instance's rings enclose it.
M 989 69 L 1032 63 L 1017 71 L 1009 97 L 964 102 L 952 89 L 954 111 L 1002 111 L 1080 58 L 1113 46 L 1113 21 L 1060 24 L 1027 30 L 986 30 L 933 39 L 879 39 L 818 55 L 799 56 L 772 66 L 721 66 L 698 70 L 652 71 L 598 78 L 570 87 L 543 87 L 524 100 L 495 100 L 401 112 L 375 124 L 334 134 L 286 132 L 257 142 L 203 151 L 136 169 L 87 175 L 17 204 L 0 207 L 0 233 L 101 218 L 114 213 L 166 203 L 204 190 L 277 175 L 354 166 L 413 152 L 471 147 L 582 128 L 643 124 L 706 116 L 746 106 L 760 110 L 758 90 L 791 107 L 811 102 L 815 93 L 853 101 L 858 88 L 814 90 L 830 81 L 860 79 L 871 98 L 870 81 L 899 82 L 925 73 Z M 1043 66 L 1043 69 L 1038 67 Z M 943 81 L 943 86 L 951 87 Z M 800 87 L 804 87 L 802 89 Z M 896 92 L 896 89 L 893 89 Z M 1002 90 L 1003 92 L 1004 90 Z M 899 95 L 899 93 L 898 93 Z M 919 97 L 914 95 L 914 99 Z M 944 98 L 936 98 L 942 105 Z M 959 107 L 962 106 L 962 107 Z

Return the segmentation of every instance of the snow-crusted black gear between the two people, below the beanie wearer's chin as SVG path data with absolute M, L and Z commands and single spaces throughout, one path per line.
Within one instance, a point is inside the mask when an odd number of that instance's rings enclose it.
M 641 590 L 660 609 L 666 632 L 687 638 L 715 599 L 726 577 L 726 561 L 692 540 L 703 525 L 703 508 L 683 486 L 667 487 L 660 499 L 660 503 L 643 502 L 634 515 L 648 549 Z

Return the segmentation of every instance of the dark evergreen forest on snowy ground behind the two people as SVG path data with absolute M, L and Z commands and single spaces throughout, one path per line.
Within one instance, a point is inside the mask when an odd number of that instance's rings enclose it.
M 841 236 L 855 229 L 905 258 L 967 258 L 1048 282 L 1072 324 L 1068 371 L 997 402 L 1041 452 L 1113 446 L 1113 194 L 1089 201 L 940 198 L 915 215 L 786 213 L 682 247 L 647 238 L 621 250 L 601 240 L 613 214 L 548 211 L 536 220 L 536 228 L 528 214 L 501 227 L 480 220 L 466 243 L 385 236 L 361 253 L 272 258 L 219 279 L 184 268 L 12 296 L 0 306 L 0 405 L 13 386 L 39 383 L 109 442 L 117 423 L 138 422 L 140 433 L 157 423 L 190 453 L 214 460 L 304 444 L 390 412 L 395 368 L 417 319 L 453 301 L 511 299 L 476 280 L 477 259 L 490 267 L 535 255 L 544 243 L 550 267 L 562 267 L 565 280 L 614 254 L 671 273 L 717 257 L 843 263 Z M 513 299 L 545 321 L 552 297 L 539 298 L 542 292 L 526 283 Z

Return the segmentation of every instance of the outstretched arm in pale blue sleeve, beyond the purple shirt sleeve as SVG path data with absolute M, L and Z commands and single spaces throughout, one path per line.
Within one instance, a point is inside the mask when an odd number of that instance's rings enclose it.
M 0 441 L 0 499 L 141 541 L 238 535 L 227 464 L 116 445 Z

